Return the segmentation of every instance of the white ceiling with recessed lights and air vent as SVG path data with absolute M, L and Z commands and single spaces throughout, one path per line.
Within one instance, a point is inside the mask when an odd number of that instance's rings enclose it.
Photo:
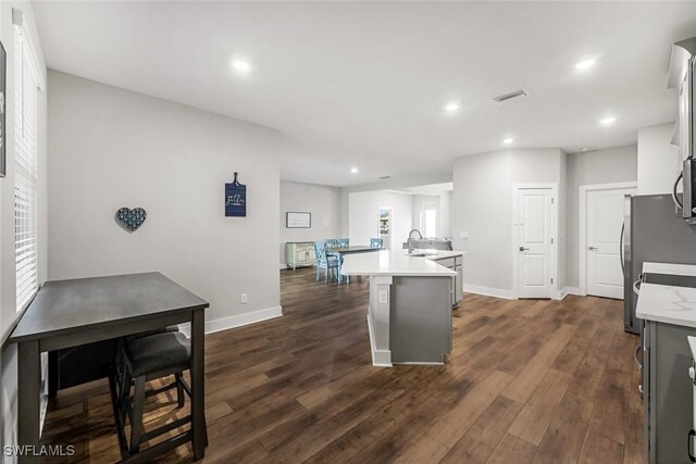
M 336 186 L 444 172 L 504 137 L 571 151 L 633 143 L 674 121 L 671 43 L 696 35 L 696 1 L 34 9 L 50 68 L 276 128 L 293 140 L 283 178 Z M 597 65 L 577 72 L 588 57 Z M 240 76 L 233 58 L 252 71 Z M 492 101 L 519 88 L 530 96 Z

